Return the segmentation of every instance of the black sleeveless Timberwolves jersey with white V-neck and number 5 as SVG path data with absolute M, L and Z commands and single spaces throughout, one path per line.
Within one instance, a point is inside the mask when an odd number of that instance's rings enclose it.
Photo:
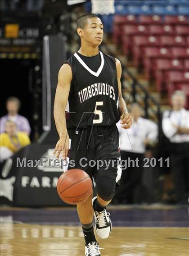
M 99 51 L 101 64 L 94 72 L 89 68 L 91 58 L 81 59 L 75 53 L 67 60 L 72 68 L 72 82 L 68 97 L 67 128 L 114 126 L 120 119 L 118 112 L 118 83 L 115 59 Z M 84 56 L 83 56 L 84 57 Z

